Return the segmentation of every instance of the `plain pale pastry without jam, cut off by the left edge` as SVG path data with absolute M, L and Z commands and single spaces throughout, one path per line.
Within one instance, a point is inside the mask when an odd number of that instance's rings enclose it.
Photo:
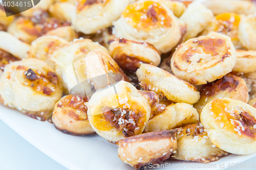
M 0 49 L 6 51 L 7 53 L 12 54 L 13 56 L 23 59 L 27 58 L 27 53 L 30 49 L 30 45 L 20 41 L 15 38 L 13 35 L 0 31 Z

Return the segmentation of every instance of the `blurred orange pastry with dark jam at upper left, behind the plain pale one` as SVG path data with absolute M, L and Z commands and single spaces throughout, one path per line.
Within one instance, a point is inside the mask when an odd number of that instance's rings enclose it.
M 37 11 L 32 17 L 18 17 L 7 29 L 14 37 L 31 43 L 37 37 L 58 27 L 70 26 L 69 22 L 60 22 L 56 18 L 50 18 L 45 11 Z

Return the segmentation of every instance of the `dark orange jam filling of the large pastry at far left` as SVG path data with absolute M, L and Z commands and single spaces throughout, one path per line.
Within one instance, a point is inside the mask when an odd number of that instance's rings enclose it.
M 23 66 L 18 66 L 17 69 L 22 69 Z M 54 72 L 48 71 L 47 76 L 43 75 L 41 71 L 28 69 L 24 72 L 24 76 L 27 81 L 25 85 L 31 86 L 34 90 L 42 92 L 46 95 L 51 95 L 55 91 L 55 87 L 58 84 L 58 77 Z

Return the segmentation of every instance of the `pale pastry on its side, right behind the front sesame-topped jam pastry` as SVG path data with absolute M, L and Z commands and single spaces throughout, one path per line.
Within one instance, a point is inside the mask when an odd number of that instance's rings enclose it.
M 91 51 L 84 61 L 86 63 L 87 79 L 95 90 L 103 89 L 121 80 L 130 82 L 119 65 L 105 52 Z

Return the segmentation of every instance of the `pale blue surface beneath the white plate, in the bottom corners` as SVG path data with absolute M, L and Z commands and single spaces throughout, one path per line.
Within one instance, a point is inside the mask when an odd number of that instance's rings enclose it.
M 243 162 L 243 164 L 247 163 L 248 166 L 249 163 L 253 162 L 256 164 L 256 157 Z M 13 131 L 0 119 L 0 170 L 35 169 L 67 170 L 66 167 L 36 149 L 32 144 Z M 231 169 L 249 170 L 255 168 L 228 168 L 228 170 Z

